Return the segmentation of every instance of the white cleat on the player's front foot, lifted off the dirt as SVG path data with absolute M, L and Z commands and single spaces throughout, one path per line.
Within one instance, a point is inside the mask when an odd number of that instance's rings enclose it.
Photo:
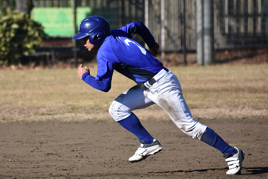
M 163 147 L 161 144 L 158 142 L 157 139 L 154 139 L 153 143 L 144 143 L 141 141 L 141 146 L 137 149 L 135 154 L 128 159 L 129 162 L 138 162 L 141 161 L 142 159 L 145 159 L 149 155 L 156 154 L 157 152 L 160 152 Z

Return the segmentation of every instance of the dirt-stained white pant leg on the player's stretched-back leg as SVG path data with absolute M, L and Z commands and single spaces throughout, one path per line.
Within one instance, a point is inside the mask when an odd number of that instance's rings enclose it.
M 154 79 L 156 83 L 144 91 L 144 96 L 162 107 L 180 130 L 201 139 L 207 126 L 192 118 L 177 77 L 170 71 L 161 70 Z

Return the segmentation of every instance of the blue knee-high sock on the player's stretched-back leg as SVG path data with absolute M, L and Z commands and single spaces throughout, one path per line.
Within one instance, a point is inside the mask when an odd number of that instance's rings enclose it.
M 205 130 L 201 141 L 207 143 L 208 145 L 218 149 L 224 154 L 229 153 L 235 155 L 237 153 L 236 149 L 228 145 L 216 132 L 208 128 Z

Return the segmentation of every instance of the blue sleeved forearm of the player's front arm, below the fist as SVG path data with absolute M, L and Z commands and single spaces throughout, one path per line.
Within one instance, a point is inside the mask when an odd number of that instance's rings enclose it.
M 91 76 L 89 73 L 84 73 L 82 75 L 82 80 L 85 83 L 89 84 L 91 87 L 103 91 L 108 92 L 111 89 L 111 83 L 104 80 L 96 80 L 94 76 Z

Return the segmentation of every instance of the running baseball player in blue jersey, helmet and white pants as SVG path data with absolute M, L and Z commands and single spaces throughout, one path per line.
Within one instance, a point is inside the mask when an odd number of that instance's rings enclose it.
M 135 34 L 143 38 L 149 50 L 131 39 Z M 141 21 L 111 31 L 105 18 L 91 16 L 82 20 L 79 33 L 73 38 L 83 39 L 83 44 L 88 51 L 97 50 L 96 77 L 90 75 L 89 69 L 82 67 L 82 64 L 78 67 L 77 74 L 85 83 L 108 92 L 114 70 L 137 83 L 119 95 L 109 108 L 112 118 L 132 132 L 141 143 L 135 154 L 129 158 L 130 162 L 141 161 L 163 149 L 159 141 L 147 132 L 132 112 L 135 109 L 157 104 L 168 113 L 172 121 L 185 134 L 222 152 L 229 166 L 227 174 L 240 173 L 244 152 L 228 145 L 212 129 L 192 118 L 183 98 L 180 82 L 155 58 L 159 45 Z

